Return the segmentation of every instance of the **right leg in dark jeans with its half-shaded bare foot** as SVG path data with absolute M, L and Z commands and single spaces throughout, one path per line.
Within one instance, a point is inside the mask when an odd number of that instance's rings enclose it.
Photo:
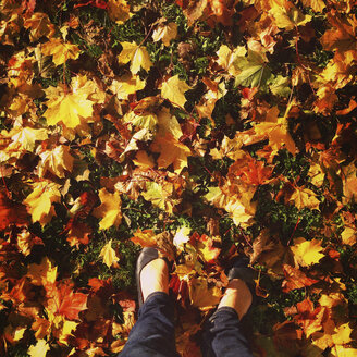
M 207 321 L 202 335 L 204 357 L 251 357 L 241 320 L 253 298 L 239 279 L 230 281 L 217 311 Z

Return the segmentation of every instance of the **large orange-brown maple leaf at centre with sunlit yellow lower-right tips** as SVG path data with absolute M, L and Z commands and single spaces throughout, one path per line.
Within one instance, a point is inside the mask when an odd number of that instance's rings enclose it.
M 187 146 L 176 140 L 171 135 L 157 136 L 150 146 L 153 152 L 160 152 L 159 169 L 173 164 L 174 171 L 180 174 L 187 167 L 187 157 L 190 150 Z

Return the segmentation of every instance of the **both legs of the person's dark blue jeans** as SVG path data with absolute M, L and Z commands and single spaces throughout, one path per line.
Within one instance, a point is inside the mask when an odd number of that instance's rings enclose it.
M 165 293 L 152 293 L 139 309 L 120 357 L 180 357 L 175 348 L 174 308 Z M 204 357 L 253 357 L 236 311 L 218 309 L 202 334 Z

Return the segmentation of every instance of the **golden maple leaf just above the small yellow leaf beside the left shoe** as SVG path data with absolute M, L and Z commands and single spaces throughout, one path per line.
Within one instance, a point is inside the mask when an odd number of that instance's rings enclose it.
M 101 218 L 99 223 L 100 230 L 108 230 L 112 225 L 119 226 L 122 222 L 122 200 L 120 194 L 115 192 L 111 194 L 107 188 L 99 190 L 99 198 L 101 205 L 94 209 L 93 214 L 97 218 Z

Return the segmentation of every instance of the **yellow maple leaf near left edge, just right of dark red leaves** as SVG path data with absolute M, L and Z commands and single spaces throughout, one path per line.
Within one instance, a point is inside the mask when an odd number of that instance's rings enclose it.
M 33 193 L 24 204 L 28 207 L 33 222 L 48 223 L 56 214 L 52 204 L 61 201 L 60 185 L 53 182 L 40 181 L 33 184 Z

